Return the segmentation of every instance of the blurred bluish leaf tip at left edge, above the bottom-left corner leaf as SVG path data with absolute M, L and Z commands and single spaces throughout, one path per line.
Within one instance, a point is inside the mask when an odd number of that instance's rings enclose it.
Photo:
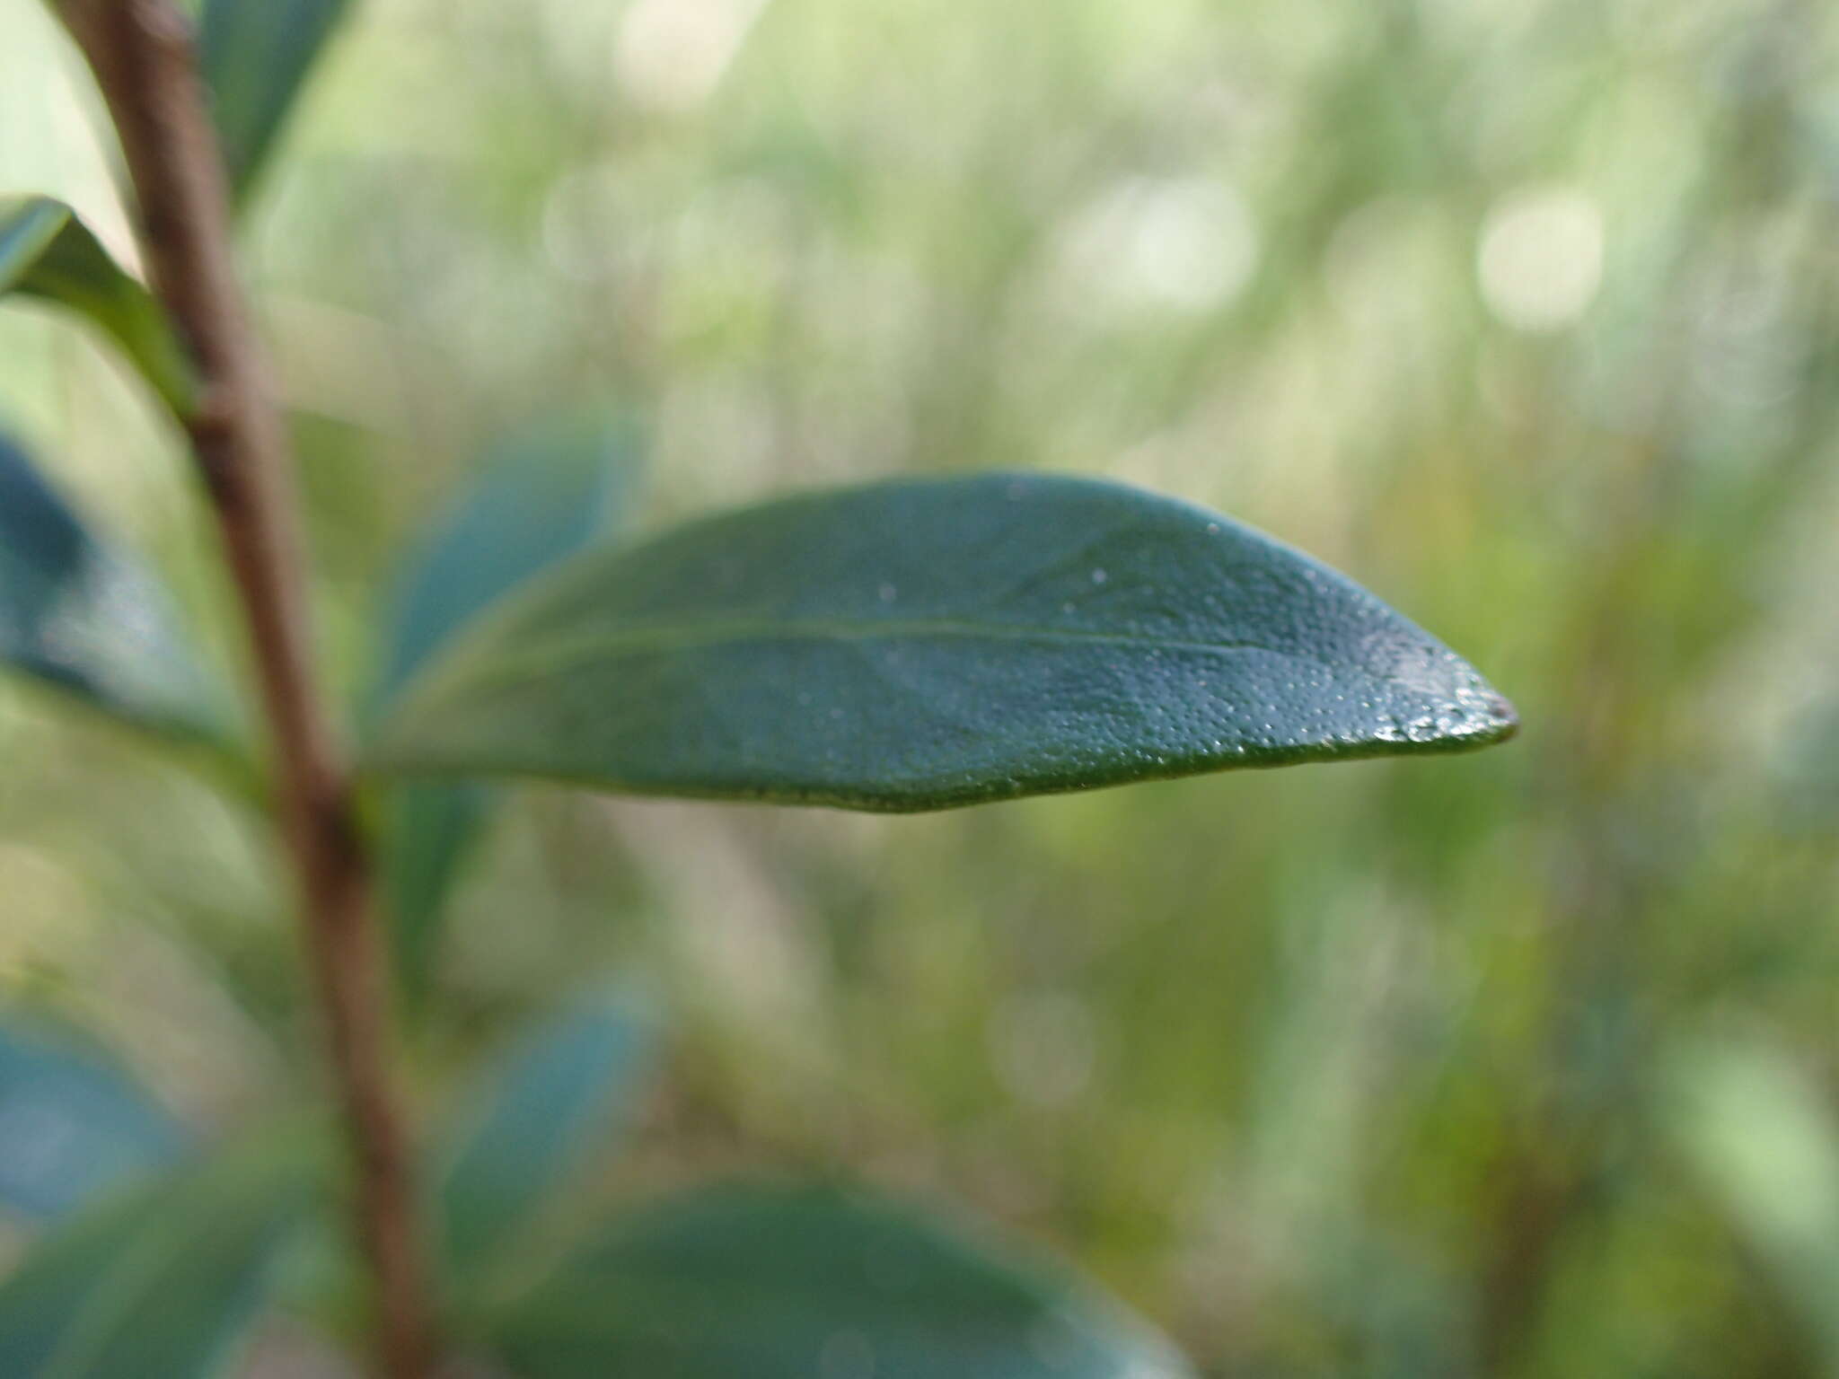
M 184 1149 L 178 1123 L 123 1072 L 0 1030 L 0 1202 L 35 1217 L 83 1206 Z

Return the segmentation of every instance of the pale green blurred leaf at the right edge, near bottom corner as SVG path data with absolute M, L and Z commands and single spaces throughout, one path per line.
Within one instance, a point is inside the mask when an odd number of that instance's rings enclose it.
M 1839 1372 L 1839 1122 L 1824 1090 L 1764 1044 L 1685 1046 L 1668 1074 L 1675 1142 Z

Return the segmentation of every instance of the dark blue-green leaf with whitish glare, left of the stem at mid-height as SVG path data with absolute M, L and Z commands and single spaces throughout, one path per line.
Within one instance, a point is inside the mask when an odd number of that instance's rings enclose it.
M 166 590 L 101 544 L 0 434 L 0 666 L 167 737 L 230 743 L 228 697 Z

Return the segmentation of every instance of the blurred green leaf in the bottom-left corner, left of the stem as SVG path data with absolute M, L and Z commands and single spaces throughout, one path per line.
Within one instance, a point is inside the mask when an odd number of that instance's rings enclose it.
M 268 1155 L 211 1162 L 85 1212 L 0 1283 L 0 1373 L 223 1373 L 303 1202 L 298 1164 Z

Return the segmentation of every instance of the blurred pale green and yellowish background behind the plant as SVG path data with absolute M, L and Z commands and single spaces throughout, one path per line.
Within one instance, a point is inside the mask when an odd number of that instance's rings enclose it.
M 94 114 L 0 0 L 0 191 L 127 256 Z M 947 1193 L 1212 1375 L 1839 1373 L 1839 11 L 357 0 L 246 248 L 353 697 L 485 447 L 614 408 L 640 528 L 1111 474 L 1337 564 L 1525 721 L 921 818 L 526 789 L 423 1096 L 620 969 L 671 1024 L 612 1197 Z M 97 342 L 0 313 L 0 416 L 234 658 Z M 254 820 L 13 684 L 0 759 L 0 1000 L 208 1127 L 305 1096 Z

